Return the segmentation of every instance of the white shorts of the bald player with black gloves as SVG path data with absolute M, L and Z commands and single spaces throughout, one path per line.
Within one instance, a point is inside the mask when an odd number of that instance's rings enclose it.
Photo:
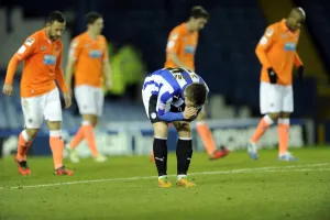
M 293 86 L 273 85 L 262 81 L 260 85 L 260 109 L 262 114 L 293 112 Z

